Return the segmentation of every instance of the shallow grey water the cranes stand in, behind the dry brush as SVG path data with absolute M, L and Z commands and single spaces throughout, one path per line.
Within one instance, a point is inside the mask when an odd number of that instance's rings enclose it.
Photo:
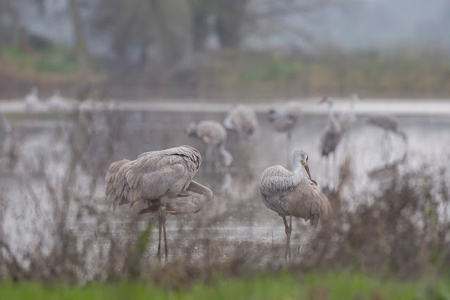
M 384 105 L 386 111 L 395 111 L 395 107 Z M 134 111 L 127 108 L 111 111 L 108 115 L 115 127 L 108 126 L 108 116 L 102 111 L 92 112 L 88 118 L 90 144 L 85 152 L 87 161 L 103 159 L 111 163 L 122 158 L 135 158 L 144 151 L 182 144 L 194 146 L 204 154 L 204 145 L 184 135 L 183 129 L 194 120 L 223 120 L 225 106 L 198 111 L 186 111 L 184 106 L 175 108 L 170 106 L 170 109 L 163 110 L 156 106 L 154 110 Z M 321 113 L 318 109 L 322 109 Z M 213 189 L 213 200 L 203 211 L 194 215 L 168 217 L 170 258 L 187 256 L 187 249 L 192 251 L 189 253 L 192 259 L 220 259 L 239 253 L 246 256 L 252 251 L 267 253 L 263 262 L 273 256 L 282 256 L 284 226 L 281 218 L 265 208 L 259 199 L 258 179 L 270 165 L 289 166 L 287 152 L 292 153 L 297 148 L 308 153 L 311 175 L 322 187 L 333 185 L 337 180 L 337 166 L 346 157 L 351 158 L 356 194 L 368 190 L 376 192 L 379 182 L 368 177 L 368 172 L 398 161 L 404 154 L 407 156 L 396 168 L 398 172 L 427 165 L 427 172 L 433 173 L 450 165 L 450 118 L 444 113 L 409 111 L 398 115 L 399 127 L 408 135 L 408 144 L 389 134 L 389 158 L 385 160 L 385 134 L 377 127 L 365 125 L 369 114 L 368 111 L 361 111 L 358 123 L 339 144 L 336 161 L 327 161 L 320 157 L 319 151 L 320 136 L 327 123 L 325 111 L 325 107 L 309 112 L 306 110 L 294 130 L 292 149 L 289 151 L 286 149 L 285 135 L 273 130 L 263 112 L 258 112 L 261 130 L 249 141 L 239 140 L 235 133 L 229 132 L 226 147 L 235 158 L 232 167 L 206 172 L 208 158 L 204 157 L 204 164 L 195 177 L 201 184 Z M 51 194 L 48 186 L 61 188 L 62 179 L 68 174 L 71 155 L 68 140 L 73 130 L 73 117 L 70 113 L 59 115 L 44 112 L 22 113 L 11 119 L 18 141 L 18 162 L 9 172 L 4 164 L 5 159 L 0 160 L 0 190 L 3 194 L 0 199 L 1 235 L 17 254 L 30 251 L 39 241 L 44 241 L 44 250 L 46 247 L 51 249 L 52 244 L 58 243 L 55 233 L 57 210 L 53 201 L 61 198 L 58 194 L 61 191 L 56 189 L 56 194 Z M 111 134 L 115 136 L 112 148 L 106 140 Z M 92 170 L 77 168 L 76 182 L 70 182 L 77 196 L 68 206 L 66 220 L 70 234 L 80 238 L 79 246 L 83 239 L 94 241 L 89 252 L 92 259 L 99 254 L 100 248 L 108 247 L 111 237 L 126 241 L 141 232 L 149 221 L 157 224 L 155 214 L 136 217 L 143 204 L 131 209 L 120 206 L 115 212 L 108 210 L 108 204 L 103 199 L 106 168 L 97 171 L 96 175 L 92 175 Z M 93 180 L 96 182 L 92 183 Z M 89 207 L 83 208 L 85 204 Z M 94 212 L 89 213 L 89 209 L 94 209 Z M 292 251 L 299 250 L 301 253 L 313 230 L 304 220 L 294 220 L 293 225 Z M 157 242 L 158 230 L 154 227 L 149 242 L 149 258 L 156 254 Z

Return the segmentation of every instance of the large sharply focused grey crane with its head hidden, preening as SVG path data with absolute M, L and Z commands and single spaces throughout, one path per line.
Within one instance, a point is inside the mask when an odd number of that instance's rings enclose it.
M 135 161 L 124 159 L 109 166 L 106 173 L 106 199 L 113 206 L 145 201 L 149 206 L 140 213 L 158 213 L 161 254 L 161 227 L 164 231 L 165 259 L 168 246 L 165 235 L 166 213 L 196 213 L 213 198 L 211 189 L 192 180 L 199 170 L 201 156 L 192 146 L 145 152 Z

